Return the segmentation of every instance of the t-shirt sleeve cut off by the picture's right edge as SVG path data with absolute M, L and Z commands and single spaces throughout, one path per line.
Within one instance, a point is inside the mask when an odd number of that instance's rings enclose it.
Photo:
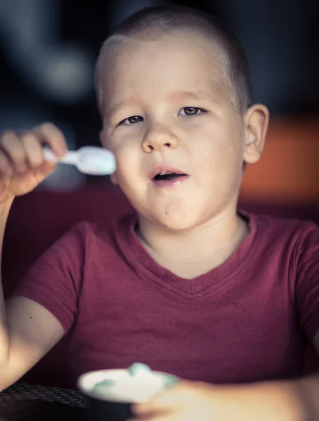
M 297 253 L 296 304 L 301 329 L 309 341 L 319 331 L 319 228 L 306 225 Z

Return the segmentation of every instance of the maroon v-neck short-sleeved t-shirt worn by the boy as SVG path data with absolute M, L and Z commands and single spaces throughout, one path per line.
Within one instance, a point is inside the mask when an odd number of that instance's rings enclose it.
M 301 375 L 306 340 L 319 330 L 319 229 L 245 218 L 242 245 L 192 280 L 149 256 L 135 215 L 112 229 L 83 223 L 36 262 L 16 294 L 69 333 L 74 377 L 134 362 L 215 383 Z

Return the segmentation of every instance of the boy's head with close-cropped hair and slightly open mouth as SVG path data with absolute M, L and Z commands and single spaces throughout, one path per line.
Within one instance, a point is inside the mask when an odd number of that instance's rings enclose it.
M 268 112 L 251 106 L 242 46 L 210 15 L 155 6 L 130 16 L 102 46 L 97 95 L 113 180 L 141 218 L 178 230 L 235 212 Z

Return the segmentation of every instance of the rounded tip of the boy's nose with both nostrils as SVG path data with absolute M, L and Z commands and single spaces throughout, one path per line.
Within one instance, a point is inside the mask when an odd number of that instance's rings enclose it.
M 178 145 L 177 137 L 166 127 L 151 128 L 145 133 L 142 147 L 145 152 L 162 149 L 175 149 Z

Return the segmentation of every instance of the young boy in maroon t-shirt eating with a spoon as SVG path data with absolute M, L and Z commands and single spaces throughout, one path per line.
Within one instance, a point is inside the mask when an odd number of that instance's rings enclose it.
M 302 374 L 304 335 L 319 349 L 319 233 L 237 212 L 269 119 L 240 44 L 204 13 L 147 8 L 106 41 L 97 82 L 111 179 L 137 215 L 74 227 L 1 305 L 1 388 L 69 333 L 75 376 L 140 361 L 205 382 L 136 406 L 143 419 L 304 419 L 296 389 L 318 381 L 283 379 Z M 44 143 L 65 153 L 48 123 L 1 138 L 2 234 L 54 170 Z

